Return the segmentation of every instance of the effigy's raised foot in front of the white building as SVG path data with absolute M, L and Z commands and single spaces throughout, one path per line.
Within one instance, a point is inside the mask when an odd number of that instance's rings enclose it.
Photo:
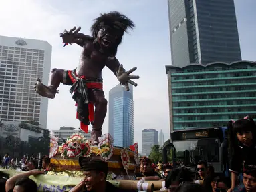
M 58 93 L 58 91 L 55 88 L 43 85 L 39 78 L 37 78 L 37 82 L 35 83 L 34 88 L 35 93 L 38 93 L 42 97 L 47 97 L 49 99 L 53 99 L 55 97 L 55 94 Z

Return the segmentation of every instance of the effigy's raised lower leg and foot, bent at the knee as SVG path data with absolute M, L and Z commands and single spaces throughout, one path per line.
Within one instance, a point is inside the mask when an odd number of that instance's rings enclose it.
M 37 78 L 35 83 L 35 92 L 43 97 L 53 99 L 57 93 L 57 87 L 60 83 L 63 83 L 64 70 L 63 69 L 52 69 L 49 79 L 49 85 L 46 86 L 41 83 L 41 80 Z

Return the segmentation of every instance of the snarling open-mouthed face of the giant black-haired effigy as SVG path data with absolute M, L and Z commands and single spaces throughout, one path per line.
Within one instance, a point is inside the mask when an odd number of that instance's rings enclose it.
M 118 31 L 112 29 L 112 27 L 109 27 L 108 25 L 101 25 L 97 38 L 101 47 L 104 47 L 105 49 L 117 47 L 116 39 L 118 39 Z

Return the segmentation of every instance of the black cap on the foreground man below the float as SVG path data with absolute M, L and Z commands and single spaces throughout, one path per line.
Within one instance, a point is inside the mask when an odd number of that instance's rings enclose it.
M 82 171 L 97 170 L 104 171 L 104 173 L 108 172 L 108 163 L 100 159 L 80 156 L 78 157 L 78 163 Z

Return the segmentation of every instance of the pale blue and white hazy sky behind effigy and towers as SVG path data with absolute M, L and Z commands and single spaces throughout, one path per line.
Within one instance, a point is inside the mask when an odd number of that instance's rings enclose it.
M 256 1 L 235 0 L 242 58 L 256 61 Z M 125 34 L 116 57 L 130 69 L 138 67 L 140 75 L 134 87 L 134 143 L 141 151 L 142 129 L 160 129 L 170 139 L 168 85 L 165 65 L 171 64 L 167 0 L 8 0 L 0 1 L 0 35 L 41 39 L 52 49 L 51 68 L 75 69 L 80 52 L 78 45 L 63 47 L 59 33 L 81 26 L 80 32 L 90 35 L 90 26 L 100 13 L 120 11 L 136 27 Z M 118 84 L 106 67 L 102 72 L 104 93 Z M 76 107 L 69 86 L 60 85 L 59 94 L 49 100 L 47 129 L 76 127 Z M 108 133 L 108 114 L 103 133 Z M 91 127 L 90 127 L 91 129 Z

